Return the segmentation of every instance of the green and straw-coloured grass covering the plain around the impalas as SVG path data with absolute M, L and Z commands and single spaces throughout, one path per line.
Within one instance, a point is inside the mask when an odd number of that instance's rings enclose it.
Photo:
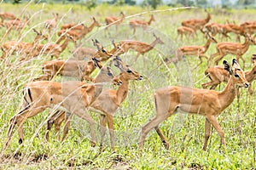
M 165 10 L 167 7 L 160 7 Z M 136 38 L 143 42 L 152 42 L 154 37 L 152 32 L 160 36 L 165 45 L 157 47 L 145 54 L 145 64 L 143 57 L 140 56 L 132 67 L 143 75 L 143 81 L 131 82 L 129 95 L 121 105 L 119 111 L 114 115 L 115 143 L 116 152 L 112 153 L 109 147 L 109 136 L 104 140 L 105 150 L 99 153 L 99 125 L 96 123 L 97 145 L 90 147 L 89 123 L 81 121 L 74 117 L 72 128 L 68 133 L 64 144 L 55 139 L 55 130 L 50 133 L 48 143 L 44 142 L 45 122 L 50 110 L 38 114 L 38 116 L 28 119 L 23 127 L 25 133 L 24 143 L 18 144 L 18 134 L 15 128 L 15 134 L 9 147 L 3 150 L 3 156 L 0 158 L 0 167 L 3 169 L 66 169 L 69 167 L 80 167 L 83 169 L 254 169 L 255 168 L 255 94 L 250 96 L 247 90 L 242 90 L 241 106 L 238 109 L 236 99 L 223 113 L 218 116 L 218 122 L 223 127 L 226 148 L 219 149 L 220 138 L 215 130 L 212 130 L 209 139 L 207 151 L 202 150 L 204 141 L 204 120 L 203 116 L 177 114 L 171 116 L 165 122 L 160 124 L 160 128 L 165 133 L 170 144 L 170 149 L 166 150 L 157 133 L 150 132 L 146 138 L 144 150 L 138 149 L 138 140 L 143 124 L 148 122 L 155 114 L 153 105 L 153 92 L 156 88 L 168 85 L 186 85 L 189 87 L 201 88 L 201 83 L 207 82 L 204 71 L 207 69 L 207 62 L 204 61 L 195 71 L 191 69 L 199 62 L 196 57 L 187 57 L 186 62 L 175 66 L 163 65 L 161 57 L 172 57 L 173 50 L 182 45 L 203 45 L 206 40 L 202 38 L 201 33 L 195 40 L 184 40 L 175 42 L 177 26 L 180 26 L 182 20 L 189 18 L 204 18 L 206 13 L 200 8 L 191 10 L 178 9 L 170 11 L 158 11 L 154 13 L 156 19 L 152 24 L 152 29 L 146 31 L 137 30 L 137 36 L 131 36 L 129 20 L 124 20 L 124 24 L 119 26 L 119 30 L 110 29 L 111 37 L 106 37 L 104 18 L 108 15 L 119 15 L 123 11 L 126 16 L 139 14 L 143 8 L 139 7 L 115 7 L 100 5 L 88 11 L 81 5 L 49 5 L 49 4 L 29 4 L 25 7 L 21 5 L 11 5 L 1 3 L 1 11 L 12 11 L 18 16 L 30 14 L 30 26 L 26 26 L 22 31 L 22 41 L 31 42 L 34 33 L 30 30 L 35 27 L 46 33 L 43 21 L 53 18 L 52 12 L 58 12 L 61 15 L 61 21 L 58 23 L 58 29 L 62 24 L 68 22 L 84 22 L 87 26 L 90 23 L 90 16 L 95 16 L 96 20 L 102 23 L 102 27 L 94 30 L 82 42 L 84 46 L 93 47 L 91 38 L 97 38 L 106 48 L 111 48 L 111 40 L 119 41 L 122 39 Z M 230 18 L 241 23 L 245 20 L 253 20 L 255 11 L 252 10 L 230 10 L 229 15 L 223 15 L 217 12 L 218 9 L 210 9 L 212 21 L 224 23 L 225 19 Z M 28 13 L 27 13 L 28 12 Z M 137 16 L 143 20 L 148 20 L 147 14 Z M 134 17 L 133 17 L 134 18 Z M 0 29 L 0 35 L 3 35 L 4 28 Z M 147 33 L 148 32 L 148 33 Z M 25 36 L 26 35 L 26 36 Z M 232 35 L 230 41 L 236 41 L 236 36 Z M 17 40 L 15 31 L 10 35 L 10 40 Z M 56 35 L 50 37 L 49 42 L 54 42 Z M 219 38 L 217 37 L 218 41 Z M 9 41 L 7 37 L 3 42 Z M 2 43 L 3 43 L 2 42 Z M 46 43 L 46 42 L 44 42 Z M 61 54 L 61 59 L 67 59 L 74 48 L 70 43 L 67 49 Z M 250 47 L 244 57 L 247 60 L 246 71 L 251 69 L 250 57 L 254 53 L 255 47 Z M 215 45 L 207 51 L 207 56 L 215 53 Z M 122 55 L 122 59 L 131 65 L 136 53 L 130 51 Z M 234 56 L 224 57 L 230 61 Z M 22 99 L 22 87 L 33 78 L 42 73 L 41 66 L 48 56 L 39 56 L 26 63 L 19 62 L 19 55 L 13 54 L 0 63 L 1 81 L 0 81 L 0 137 L 1 148 L 6 139 L 9 119 L 15 113 L 20 111 Z M 161 64 L 161 65 L 160 65 Z M 114 70 L 116 73 L 118 71 Z M 57 78 L 62 81 L 61 77 Z M 221 84 L 221 90 L 224 84 Z M 99 122 L 99 116 L 96 113 L 90 113 Z

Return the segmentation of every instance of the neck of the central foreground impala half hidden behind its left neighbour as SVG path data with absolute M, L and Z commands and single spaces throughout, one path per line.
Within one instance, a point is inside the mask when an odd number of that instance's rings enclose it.
M 116 94 L 118 105 L 120 105 L 127 97 L 128 88 L 129 88 L 129 80 L 127 80 L 122 75 L 120 75 L 119 79 L 122 81 L 122 84 L 119 86 L 119 88 L 117 90 L 117 94 Z

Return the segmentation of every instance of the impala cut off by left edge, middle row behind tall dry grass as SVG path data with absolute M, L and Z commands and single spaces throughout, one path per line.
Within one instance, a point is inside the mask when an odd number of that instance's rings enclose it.
M 1 50 L 3 51 L 1 59 L 5 59 L 9 54 L 13 54 L 14 52 L 30 56 L 30 54 L 32 54 L 32 52 L 35 50 L 41 40 L 48 39 L 47 36 L 42 34 L 42 31 L 38 32 L 35 29 L 32 30 L 37 33 L 37 36 L 35 37 L 33 42 L 10 41 L 3 43 L 1 45 Z

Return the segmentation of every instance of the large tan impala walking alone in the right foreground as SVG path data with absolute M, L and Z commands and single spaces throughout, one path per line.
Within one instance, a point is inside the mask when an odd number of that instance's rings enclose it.
M 217 116 L 221 114 L 235 99 L 236 86 L 248 88 L 249 83 L 245 78 L 244 71 L 233 59 L 233 68 L 224 60 L 224 69 L 230 73 L 229 82 L 223 91 L 170 86 L 159 88 L 154 91 L 154 107 L 156 114 L 154 118 L 142 127 L 139 147 L 143 149 L 144 140 L 153 128 L 159 134 L 166 149 L 169 144 L 160 131 L 160 122 L 175 114 L 178 110 L 206 116 L 205 142 L 203 150 L 207 150 L 207 141 L 211 135 L 211 125 L 217 130 L 221 138 L 221 144 L 225 145 L 224 131 L 218 124 Z

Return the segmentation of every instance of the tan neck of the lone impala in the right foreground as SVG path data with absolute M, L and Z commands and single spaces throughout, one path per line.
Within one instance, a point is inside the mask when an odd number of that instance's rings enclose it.
M 234 77 L 230 76 L 229 82 L 218 95 L 218 100 L 223 110 L 228 107 L 236 97 L 236 85 Z

